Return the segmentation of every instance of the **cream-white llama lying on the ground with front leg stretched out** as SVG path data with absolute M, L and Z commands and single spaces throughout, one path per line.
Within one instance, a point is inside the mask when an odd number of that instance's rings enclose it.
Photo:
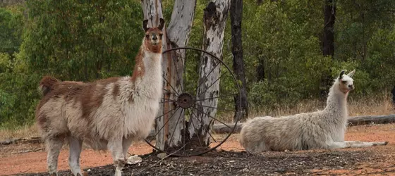
M 241 145 L 250 153 L 386 145 L 388 142 L 344 141 L 348 118 L 347 96 L 354 89 L 351 77 L 355 70 L 348 75 L 344 75 L 345 72 L 342 70 L 334 80 L 324 110 L 248 120 L 241 129 Z

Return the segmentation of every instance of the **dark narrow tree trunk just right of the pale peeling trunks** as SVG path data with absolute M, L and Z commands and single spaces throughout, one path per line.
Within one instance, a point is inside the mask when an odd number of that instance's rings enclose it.
M 247 85 L 245 83 L 243 43 L 241 32 L 241 21 L 243 18 L 243 0 L 231 1 L 231 34 L 232 34 L 232 54 L 233 72 L 237 80 L 241 81 L 240 96 L 235 96 L 236 112 L 243 112 L 241 116 L 236 114 L 233 121 L 245 120 L 248 117 Z M 239 119 L 241 118 L 241 119 Z

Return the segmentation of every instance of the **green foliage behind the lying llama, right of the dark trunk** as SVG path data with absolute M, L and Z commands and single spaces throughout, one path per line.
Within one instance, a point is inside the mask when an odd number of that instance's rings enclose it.
M 324 1 L 248 1 L 243 49 L 250 103 L 281 106 L 320 96 L 323 73 L 356 69 L 356 96 L 394 87 L 394 1 L 336 2 L 335 56 L 321 51 Z M 253 20 L 250 20 L 253 19 Z M 262 64 L 265 80 L 256 82 Z

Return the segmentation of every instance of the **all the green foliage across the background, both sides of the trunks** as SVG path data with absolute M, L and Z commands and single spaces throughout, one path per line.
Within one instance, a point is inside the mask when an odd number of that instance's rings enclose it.
M 204 9 L 197 1 L 188 46 L 202 47 Z M 174 0 L 163 0 L 167 23 Z M 243 54 L 253 108 L 317 99 L 322 77 L 356 69 L 352 96 L 372 96 L 395 82 L 395 1 L 336 1 L 334 58 L 322 56 L 324 1 L 243 1 Z M 140 1 L 26 1 L 0 8 L 0 127 L 33 122 L 43 75 L 92 81 L 130 75 L 142 39 Z M 28 9 L 28 10 L 25 10 Z M 28 17 L 28 18 L 27 18 Z M 230 19 L 222 60 L 232 67 Z M 196 89 L 200 52 L 188 53 L 186 89 Z M 262 65 L 263 80 L 257 81 Z M 224 66 L 221 67 L 224 70 Z M 222 94 L 235 89 L 221 78 Z M 225 93 L 226 92 L 226 93 Z M 233 97 L 220 101 L 233 108 Z

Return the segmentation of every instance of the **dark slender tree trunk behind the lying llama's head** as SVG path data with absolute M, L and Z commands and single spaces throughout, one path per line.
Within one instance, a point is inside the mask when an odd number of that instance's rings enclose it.
M 322 37 L 322 54 L 324 56 L 334 56 L 334 22 L 336 19 L 335 0 L 324 0 L 324 37 Z M 332 85 L 331 70 L 322 73 L 320 96 L 326 99 L 329 88 Z

